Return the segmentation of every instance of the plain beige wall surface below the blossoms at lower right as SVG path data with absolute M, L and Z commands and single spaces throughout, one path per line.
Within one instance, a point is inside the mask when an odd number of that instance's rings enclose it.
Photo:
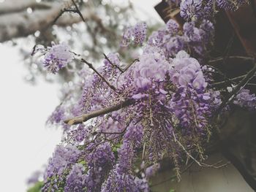
M 211 155 L 206 163 L 214 164 L 219 160 L 223 160 L 222 164 L 227 162 L 220 153 L 217 153 Z M 152 190 L 154 192 L 169 192 L 170 189 L 174 189 L 175 192 L 253 192 L 232 164 L 220 169 L 202 168 L 194 164 L 181 175 L 180 183 L 176 180 L 168 180 L 173 174 L 170 169 L 157 174 L 152 179 L 152 185 L 155 185 Z M 165 180 L 167 181 L 156 185 Z

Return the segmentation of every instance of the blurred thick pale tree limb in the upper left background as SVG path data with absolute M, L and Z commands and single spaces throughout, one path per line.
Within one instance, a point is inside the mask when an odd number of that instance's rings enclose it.
M 64 9 L 68 9 L 72 1 L 39 2 L 34 0 L 9 0 L 1 3 L 0 7 L 0 42 L 15 37 L 27 37 L 36 31 L 45 31 Z M 33 12 L 27 12 L 27 8 Z M 83 18 L 95 18 L 92 12 L 80 10 Z M 78 23 L 81 18 L 78 14 L 64 13 L 56 25 L 67 26 Z

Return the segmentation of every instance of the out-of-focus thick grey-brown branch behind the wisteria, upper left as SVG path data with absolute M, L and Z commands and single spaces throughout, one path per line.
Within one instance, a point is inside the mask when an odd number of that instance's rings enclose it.
M 15 8 L 15 6 L 13 6 L 15 2 L 13 1 L 14 0 L 10 1 L 12 2 L 12 7 L 14 7 L 12 13 L 0 14 L 0 42 L 5 42 L 15 37 L 27 37 L 29 34 L 34 34 L 36 31 L 45 31 L 48 26 L 51 26 L 61 12 L 74 5 L 71 0 L 65 1 L 65 4 L 63 4 L 63 2 L 53 1 L 47 4 L 45 3 L 48 7 L 37 7 L 31 14 L 29 14 L 26 12 L 26 9 L 23 9 L 28 4 L 20 5 L 20 8 L 18 8 L 19 6 Z M 39 4 L 42 5 L 42 3 Z M 4 8 L 1 8 L 0 6 L 0 12 L 1 9 Z M 19 9 L 23 10 L 19 12 Z M 85 7 L 81 10 L 75 8 L 73 10 L 76 14 L 64 14 L 61 18 L 56 20 L 55 24 L 57 26 L 69 26 L 72 25 L 72 23 L 82 21 L 83 18 L 94 20 L 94 22 L 99 23 L 100 18 L 98 18 L 89 8 Z

